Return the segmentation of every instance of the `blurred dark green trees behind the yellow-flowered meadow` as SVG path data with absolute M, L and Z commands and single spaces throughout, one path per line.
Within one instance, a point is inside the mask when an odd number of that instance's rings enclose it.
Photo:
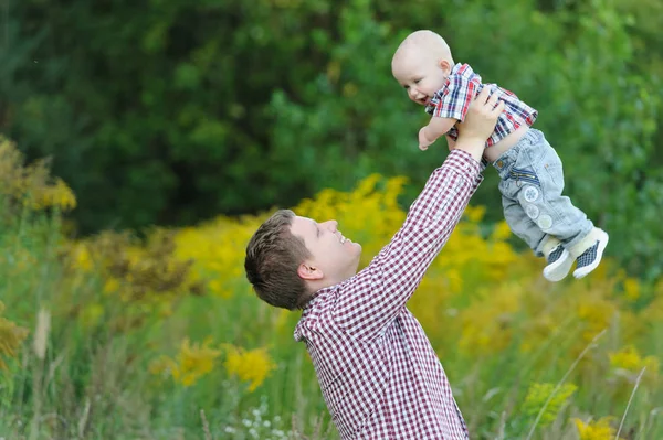
M 567 194 L 633 273 L 663 270 L 660 6 L 648 0 L 10 2 L 0 130 L 52 154 L 83 233 L 293 205 L 379 172 L 412 201 L 444 142 L 390 74 L 420 28 L 539 110 Z M 475 202 L 502 217 L 487 170 Z

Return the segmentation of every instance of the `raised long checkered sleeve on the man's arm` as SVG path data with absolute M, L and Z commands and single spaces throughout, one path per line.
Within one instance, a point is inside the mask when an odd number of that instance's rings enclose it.
M 400 230 L 338 292 L 334 316 L 339 326 L 360 339 L 382 334 L 449 239 L 483 180 L 482 169 L 465 151 L 449 153 L 410 206 Z

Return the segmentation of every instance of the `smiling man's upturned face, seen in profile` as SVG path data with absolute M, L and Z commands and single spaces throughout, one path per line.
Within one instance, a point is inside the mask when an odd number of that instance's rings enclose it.
M 307 217 L 295 217 L 291 233 L 304 239 L 312 257 L 307 264 L 318 268 L 325 279 L 338 283 L 357 273 L 361 246 L 344 237 L 338 222 L 317 223 Z

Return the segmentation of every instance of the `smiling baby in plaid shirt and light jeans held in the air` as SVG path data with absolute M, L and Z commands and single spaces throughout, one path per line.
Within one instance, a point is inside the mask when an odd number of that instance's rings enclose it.
M 431 121 L 419 130 L 419 148 L 425 150 L 442 135 L 450 149 L 457 139 L 470 101 L 485 87 L 505 103 L 484 152 L 502 179 L 504 217 L 515 235 L 538 257 L 545 257 L 544 277 L 564 279 L 573 262 L 573 277 L 582 278 L 599 266 L 608 234 L 593 226 L 573 206 L 564 190 L 562 167 L 544 133 L 530 128 L 538 112 L 513 93 L 495 84 L 482 84 L 467 64 L 455 64 L 444 39 L 417 31 L 399 45 L 391 61 L 394 78 L 414 103 L 425 107 Z

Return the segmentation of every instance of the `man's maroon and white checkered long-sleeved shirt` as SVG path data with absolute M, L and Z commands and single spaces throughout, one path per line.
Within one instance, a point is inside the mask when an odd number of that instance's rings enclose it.
M 315 293 L 295 329 L 346 439 L 467 439 L 451 386 L 406 308 L 483 180 L 485 164 L 453 150 L 368 267 Z M 440 312 L 442 313 L 442 312 Z

